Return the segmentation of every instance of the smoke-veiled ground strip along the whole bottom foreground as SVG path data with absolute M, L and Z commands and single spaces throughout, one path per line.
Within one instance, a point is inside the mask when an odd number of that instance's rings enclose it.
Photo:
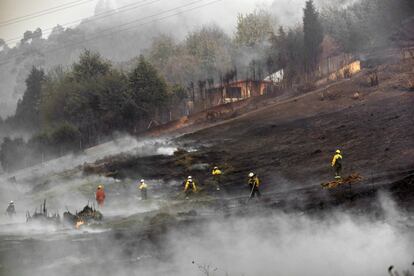
M 0 269 L 23 276 L 386 275 L 391 264 L 409 269 L 412 214 L 387 196 L 377 200 L 381 216 L 336 210 L 314 217 L 252 204 L 242 216 L 171 220 L 171 206 L 153 225 L 143 220 L 134 227 L 107 225 L 100 233 L 2 237 Z

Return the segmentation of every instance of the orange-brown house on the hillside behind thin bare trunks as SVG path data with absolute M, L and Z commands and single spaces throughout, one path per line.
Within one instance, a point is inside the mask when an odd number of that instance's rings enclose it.
M 207 89 L 207 101 L 209 106 L 217 106 L 244 100 L 250 97 L 275 93 L 278 86 L 267 80 L 239 80 L 221 84 Z

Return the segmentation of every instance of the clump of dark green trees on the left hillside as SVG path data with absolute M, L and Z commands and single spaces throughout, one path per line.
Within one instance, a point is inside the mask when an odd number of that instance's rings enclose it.
M 0 161 L 6 170 L 80 151 L 117 131 L 137 133 L 153 120 L 167 121 L 186 98 L 181 86 L 167 84 L 143 56 L 124 72 L 89 50 L 69 70 L 33 67 L 26 87 L 6 123 L 34 135 L 27 142 L 4 139 Z

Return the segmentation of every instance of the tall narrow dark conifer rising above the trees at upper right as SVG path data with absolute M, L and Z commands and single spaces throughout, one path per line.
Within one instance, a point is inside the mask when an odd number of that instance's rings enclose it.
M 312 73 L 319 63 L 323 40 L 323 29 L 319 21 L 319 13 L 316 11 L 312 0 L 306 1 L 303 15 L 303 34 L 305 72 Z

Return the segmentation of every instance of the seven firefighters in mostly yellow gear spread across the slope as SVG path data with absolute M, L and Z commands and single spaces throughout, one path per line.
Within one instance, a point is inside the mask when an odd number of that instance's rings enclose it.
M 335 180 L 340 181 L 341 173 L 342 173 L 342 153 L 340 150 L 336 150 L 332 158 L 331 166 L 334 168 Z M 213 170 L 211 171 L 211 175 L 214 179 L 214 183 L 216 185 L 217 191 L 220 191 L 222 174 L 223 174 L 222 171 L 217 166 L 214 167 Z M 261 197 L 261 193 L 259 190 L 260 183 L 261 181 L 256 173 L 250 172 L 248 174 L 247 184 L 248 184 L 249 191 L 250 191 L 249 199 L 252 199 L 255 196 L 257 196 L 258 198 Z M 195 194 L 198 191 L 197 183 L 191 175 L 188 176 L 187 179 L 183 182 L 183 187 L 184 187 L 184 194 L 185 194 L 186 199 L 189 199 L 189 197 L 192 194 Z M 138 189 L 141 192 L 141 199 L 147 200 L 148 199 L 148 185 L 144 179 L 141 179 L 141 181 L 139 182 Z M 105 198 L 106 198 L 106 195 L 105 195 L 104 187 L 102 185 L 99 185 L 98 188 L 96 189 L 95 199 L 100 207 L 103 206 L 105 202 Z M 10 201 L 9 206 L 7 207 L 6 213 L 9 216 L 13 216 L 16 213 L 13 201 Z

